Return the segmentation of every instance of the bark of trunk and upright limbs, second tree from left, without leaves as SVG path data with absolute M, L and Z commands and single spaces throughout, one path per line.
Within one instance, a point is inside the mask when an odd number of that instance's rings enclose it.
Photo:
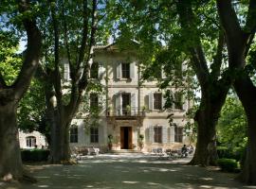
M 92 3 L 92 11 L 88 11 L 89 3 Z M 83 95 L 88 85 L 89 61 L 92 59 L 92 48 L 95 43 L 95 33 L 97 29 L 97 0 L 88 2 L 82 1 L 82 40 L 78 48 L 78 60 L 71 60 L 70 46 L 67 39 L 67 25 L 64 18 L 64 48 L 66 49 L 67 59 L 71 70 L 71 94 L 67 105 L 63 103 L 63 89 L 61 76 L 59 73 L 60 52 L 59 52 L 59 20 L 56 17 L 57 7 L 51 7 L 52 23 L 54 28 L 54 54 L 55 68 L 54 74 L 49 77 L 48 84 L 52 84 L 54 94 L 48 96 L 47 116 L 51 128 L 50 161 L 52 163 L 67 163 L 70 161 L 69 149 L 69 129 L 70 124 L 82 102 Z M 64 5 L 62 5 L 64 12 Z M 64 15 L 63 15 L 64 16 Z M 89 25 L 89 23 L 91 23 Z M 51 88 L 49 88 L 51 89 Z M 48 92 L 50 93 L 50 92 Z M 51 92 L 52 93 L 52 92 Z M 55 96 L 56 105 L 52 104 L 50 98 Z M 46 97 L 47 98 L 47 97 Z

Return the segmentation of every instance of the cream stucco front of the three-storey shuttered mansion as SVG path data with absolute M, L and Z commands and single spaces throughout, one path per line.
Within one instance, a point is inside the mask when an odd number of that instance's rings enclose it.
M 100 46 L 94 49 L 93 62 L 99 64 L 98 79 L 104 90 L 98 96 L 102 106 L 99 126 L 96 133 L 91 133 L 84 118 L 77 116 L 72 122 L 77 126 L 77 138 L 76 131 L 72 131 L 70 146 L 95 146 L 105 151 L 108 135 L 113 136 L 116 150 L 139 149 L 139 135 L 144 136 L 143 151 L 188 143 L 183 127 L 191 103 L 185 101 L 180 109 L 163 111 L 164 91 L 159 91 L 155 80 L 140 82 L 139 62 L 133 52 L 121 52 L 115 44 Z M 167 119 L 170 113 L 174 113 L 175 126 L 170 126 Z M 92 134 L 98 134 L 98 138 Z

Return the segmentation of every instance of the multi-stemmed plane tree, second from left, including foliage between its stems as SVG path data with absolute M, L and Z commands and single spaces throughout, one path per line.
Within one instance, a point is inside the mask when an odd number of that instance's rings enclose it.
M 51 128 L 50 161 L 61 163 L 70 159 L 69 129 L 87 93 L 93 45 L 103 39 L 96 32 L 107 5 L 97 0 L 56 0 L 49 8 L 50 15 L 42 22 L 46 51 L 39 72 L 45 81 L 46 117 Z

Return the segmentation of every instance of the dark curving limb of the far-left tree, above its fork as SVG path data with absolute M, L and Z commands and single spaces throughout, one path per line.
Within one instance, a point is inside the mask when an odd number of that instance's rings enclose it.
M 20 12 L 28 11 L 28 7 L 29 5 L 26 0 L 20 0 Z M 23 25 L 27 31 L 27 50 L 19 76 L 11 86 L 15 91 L 17 101 L 27 91 L 31 77 L 38 66 L 42 46 L 41 33 L 36 26 L 35 19 L 24 18 Z

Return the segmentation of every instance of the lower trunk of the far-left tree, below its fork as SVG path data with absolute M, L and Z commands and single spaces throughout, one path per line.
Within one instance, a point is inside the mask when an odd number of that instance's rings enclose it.
M 0 105 L 0 178 L 20 180 L 23 173 L 16 122 L 16 104 L 11 101 Z

